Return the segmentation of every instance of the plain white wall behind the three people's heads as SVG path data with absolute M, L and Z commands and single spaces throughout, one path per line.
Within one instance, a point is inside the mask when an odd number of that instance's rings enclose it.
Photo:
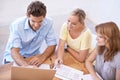
M 17 17 L 25 15 L 27 4 L 33 0 L 1 0 L 0 26 L 8 25 Z M 41 0 L 48 8 L 49 16 L 68 14 L 79 7 L 86 11 L 95 24 L 114 21 L 120 26 L 120 0 Z

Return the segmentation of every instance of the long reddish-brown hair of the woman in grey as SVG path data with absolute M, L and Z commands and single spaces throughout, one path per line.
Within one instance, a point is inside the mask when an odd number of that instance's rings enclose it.
M 114 22 L 106 22 L 95 27 L 97 33 L 105 39 L 105 46 L 98 46 L 98 53 L 104 54 L 105 61 L 112 60 L 120 51 L 120 31 Z

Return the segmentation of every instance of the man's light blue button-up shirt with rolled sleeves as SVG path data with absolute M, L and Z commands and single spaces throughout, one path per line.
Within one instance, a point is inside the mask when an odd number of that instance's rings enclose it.
M 53 29 L 53 21 L 45 18 L 39 30 L 33 31 L 28 18 L 22 17 L 13 22 L 10 26 L 10 36 L 6 46 L 4 59 L 13 61 L 11 57 L 11 48 L 20 48 L 20 54 L 23 57 L 30 57 L 41 53 L 40 48 L 45 40 L 47 46 L 56 45 L 56 36 Z

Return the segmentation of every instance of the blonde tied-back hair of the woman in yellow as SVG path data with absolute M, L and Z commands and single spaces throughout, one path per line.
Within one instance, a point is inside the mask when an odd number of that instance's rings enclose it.
M 72 11 L 72 15 L 78 16 L 79 22 L 84 23 L 84 20 L 86 18 L 86 14 L 85 14 L 84 10 L 76 8 L 75 10 Z

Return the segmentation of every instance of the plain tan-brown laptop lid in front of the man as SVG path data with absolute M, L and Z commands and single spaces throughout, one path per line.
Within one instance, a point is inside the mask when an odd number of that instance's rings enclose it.
M 56 70 L 27 67 L 11 67 L 11 80 L 52 80 Z

